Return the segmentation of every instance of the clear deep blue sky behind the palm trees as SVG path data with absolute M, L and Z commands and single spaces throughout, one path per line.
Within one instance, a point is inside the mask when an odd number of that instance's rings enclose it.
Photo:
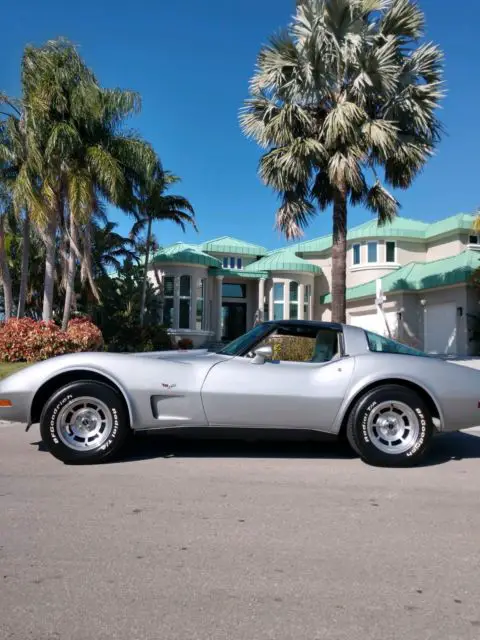
M 257 177 L 260 152 L 238 126 L 259 47 L 286 25 L 294 0 L 23 0 L 2 11 L 0 90 L 19 92 L 26 43 L 65 36 L 104 86 L 139 91 L 143 110 L 132 122 L 182 178 L 178 191 L 197 213 L 199 234 L 164 223 L 163 244 L 232 235 L 268 248 L 284 244 L 273 230 L 277 199 Z M 447 129 L 437 156 L 413 187 L 399 195 L 402 215 L 435 220 L 480 205 L 480 3 L 467 0 L 460 14 L 451 3 L 421 0 L 427 38 L 446 55 L 448 96 L 441 112 Z M 468 5 L 468 7 L 467 7 Z M 468 11 L 467 11 L 468 9 Z M 127 232 L 129 221 L 113 212 Z M 349 226 L 370 217 L 349 212 Z M 319 214 L 306 238 L 330 232 L 329 212 Z

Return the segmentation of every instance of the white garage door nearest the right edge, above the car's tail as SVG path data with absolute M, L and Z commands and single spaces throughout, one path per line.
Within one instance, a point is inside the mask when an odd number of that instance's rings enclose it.
M 457 349 L 457 306 L 454 302 L 425 307 L 425 351 L 455 353 Z

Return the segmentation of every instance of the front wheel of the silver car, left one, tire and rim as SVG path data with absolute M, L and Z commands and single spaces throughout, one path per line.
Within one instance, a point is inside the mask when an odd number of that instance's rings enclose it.
M 112 387 L 74 382 L 46 402 L 40 433 L 48 450 L 62 462 L 104 462 L 119 452 L 130 433 L 128 412 Z

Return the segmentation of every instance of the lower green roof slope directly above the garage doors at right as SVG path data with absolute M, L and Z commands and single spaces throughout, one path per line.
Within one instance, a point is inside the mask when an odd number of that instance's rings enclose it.
M 461 284 L 467 282 L 479 267 L 480 251 L 467 249 L 450 258 L 442 258 L 432 262 L 410 262 L 384 276 L 381 279 L 382 288 L 384 293 L 393 293 L 395 291 L 421 291 L 422 289 Z M 347 300 L 374 297 L 375 295 L 376 280 L 347 289 Z M 320 300 L 322 304 L 329 304 L 331 301 L 330 293 L 322 296 Z

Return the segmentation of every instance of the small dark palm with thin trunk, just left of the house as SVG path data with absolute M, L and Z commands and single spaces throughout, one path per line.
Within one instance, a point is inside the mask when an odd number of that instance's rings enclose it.
M 165 195 L 167 189 L 178 182 L 180 182 L 178 176 L 169 171 L 163 171 L 160 164 L 158 164 L 151 179 L 140 188 L 138 206 L 134 213 L 136 221 L 130 232 L 131 237 L 137 237 L 146 228 L 145 262 L 140 300 L 140 326 L 143 326 L 145 315 L 153 222 L 170 220 L 181 227 L 183 231 L 185 231 L 186 224 L 191 224 L 195 230 L 197 229 L 195 212 L 190 202 L 183 196 Z

